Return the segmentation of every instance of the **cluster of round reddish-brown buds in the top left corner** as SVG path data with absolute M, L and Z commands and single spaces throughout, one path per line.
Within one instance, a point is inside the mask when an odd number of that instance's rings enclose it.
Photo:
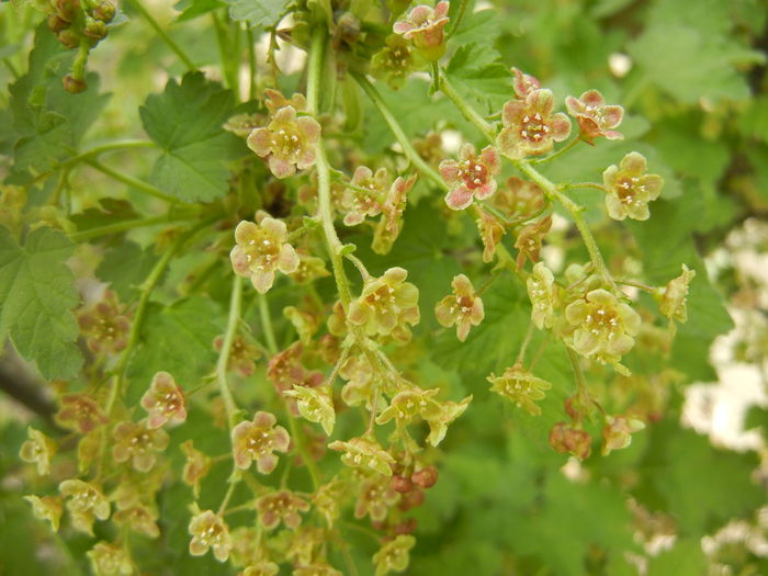
M 84 5 L 80 0 L 48 0 L 45 11 L 48 29 L 65 47 L 75 49 L 82 44 L 92 48 L 105 38 L 116 8 L 110 0 L 86 2 Z M 72 74 L 64 78 L 65 90 L 72 93 L 86 90 L 83 68 L 84 61 L 76 63 Z

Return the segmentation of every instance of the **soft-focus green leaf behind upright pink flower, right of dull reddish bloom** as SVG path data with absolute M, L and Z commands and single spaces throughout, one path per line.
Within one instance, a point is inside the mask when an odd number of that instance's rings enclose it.
M 147 308 L 142 343 L 128 365 L 128 402 L 137 400 L 153 375 L 165 370 L 179 385 L 190 389 L 213 371 L 213 340 L 224 332 L 224 313 L 213 301 L 192 296 L 166 308 Z

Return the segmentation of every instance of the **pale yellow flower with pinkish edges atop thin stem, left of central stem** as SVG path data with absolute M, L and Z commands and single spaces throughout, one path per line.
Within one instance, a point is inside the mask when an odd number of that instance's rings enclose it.
M 242 221 L 235 229 L 237 245 L 229 252 L 231 267 L 240 276 L 250 278 L 253 287 L 267 293 L 274 283 L 274 272 L 295 272 L 298 256 L 287 242 L 287 227 L 282 221 L 264 216 L 259 224 Z

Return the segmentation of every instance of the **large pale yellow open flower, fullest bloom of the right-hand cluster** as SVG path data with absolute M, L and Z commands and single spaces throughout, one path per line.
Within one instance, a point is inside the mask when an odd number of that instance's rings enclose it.
M 603 289 L 588 292 L 568 304 L 565 318 L 575 328 L 571 346 L 598 362 L 617 363 L 634 346 L 640 315 Z

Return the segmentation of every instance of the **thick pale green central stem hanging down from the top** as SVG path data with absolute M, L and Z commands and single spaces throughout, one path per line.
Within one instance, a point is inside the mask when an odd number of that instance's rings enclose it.
M 307 77 L 307 111 L 315 116 L 318 113 L 320 72 L 323 70 L 325 45 L 326 31 L 323 26 L 318 26 L 312 39 Z M 346 312 L 352 301 L 352 293 L 349 287 L 349 279 L 345 272 L 343 259 L 341 258 L 342 244 L 334 227 L 334 215 L 330 210 L 330 167 L 326 158 L 323 139 L 317 143 L 317 161 L 315 167 L 317 170 L 318 212 L 323 223 L 323 233 L 330 255 L 339 300 L 341 300 L 341 305 Z

